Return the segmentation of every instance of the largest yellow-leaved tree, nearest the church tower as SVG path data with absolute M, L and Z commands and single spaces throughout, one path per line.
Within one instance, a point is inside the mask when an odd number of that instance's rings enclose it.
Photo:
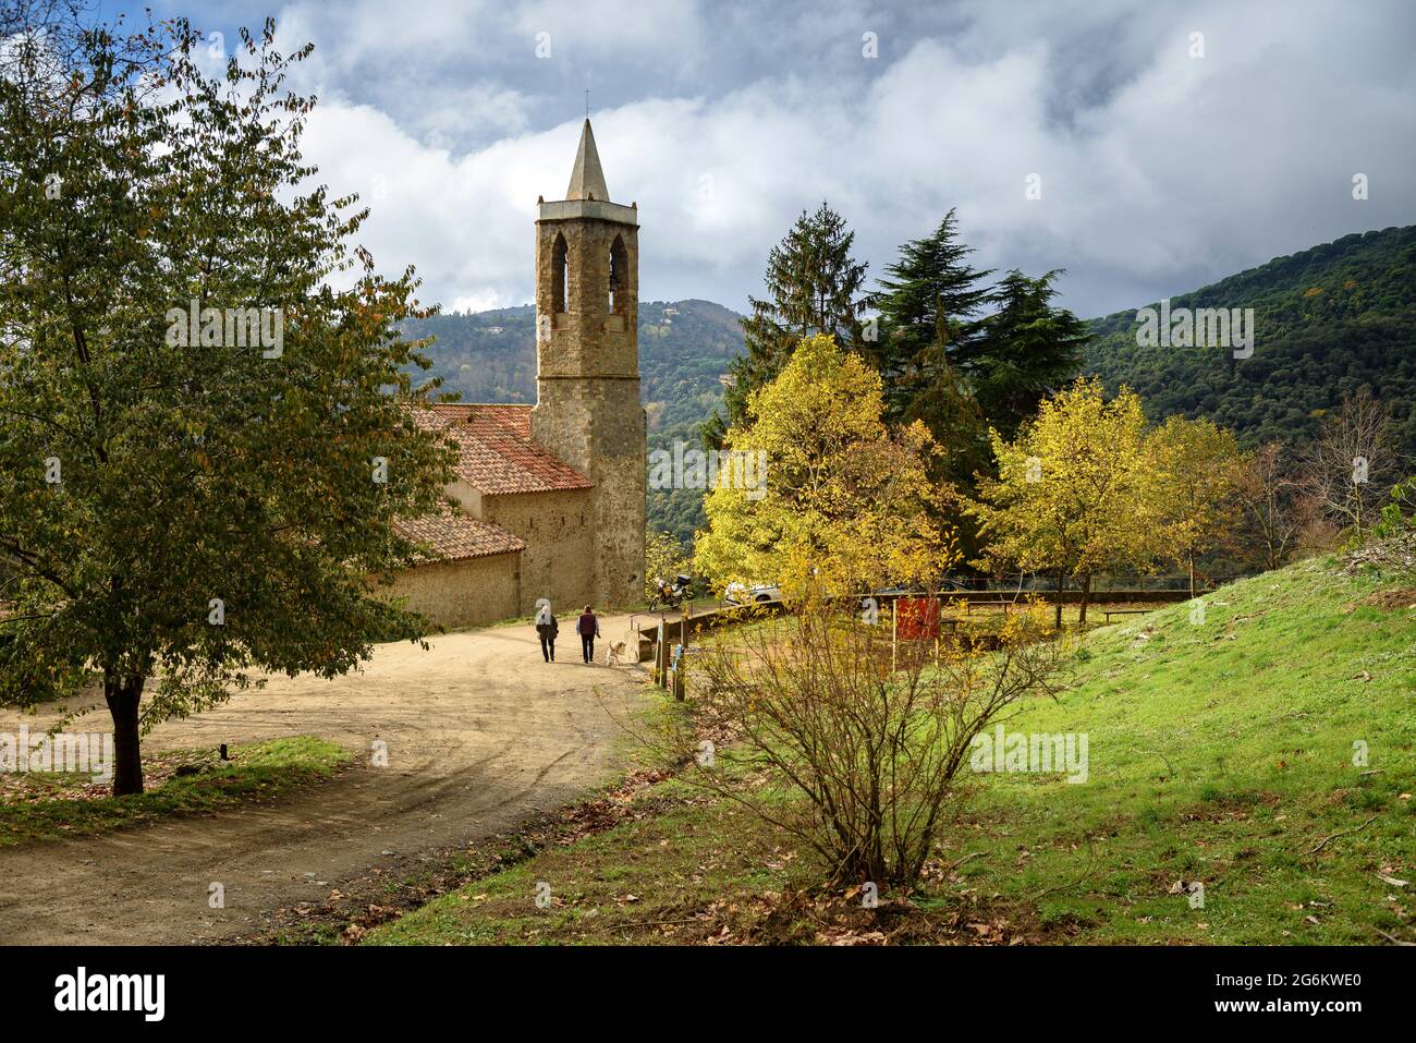
M 775 582 L 783 597 L 926 582 L 953 564 L 953 533 L 930 519 L 933 439 L 923 424 L 891 431 L 881 378 L 828 336 L 806 337 L 755 391 L 726 449 L 750 455 L 758 487 L 719 466 L 695 536 L 698 571 L 719 590 Z

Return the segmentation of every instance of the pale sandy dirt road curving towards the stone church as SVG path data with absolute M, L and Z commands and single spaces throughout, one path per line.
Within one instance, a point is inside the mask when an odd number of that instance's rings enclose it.
M 619 638 L 627 619 L 602 629 Z M 542 662 L 530 625 L 445 635 L 428 652 L 382 645 L 361 673 L 273 677 L 262 692 L 160 726 L 144 740 L 150 750 L 313 734 L 355 751 L 357 764 L 270 806 L 0 849 L 0 944 L 251 934 L 273 910 L 320 900 L 371 867 L 395 872 L 421 850 L 575 799 L 620 767 L 619 726 L 596 689 L 623 716 L 644 697 L 643 675 L 585 666 L 568 628 L 558 645 L 559 662 Z M 0 731 L 18 724 L 0 713 Z M 72 730 L 108 726 L 99 709 Z M 387 743 L 387 768 L 370 764 L 375 740 Z M 212 883 L 224 884 L 225 908 L 210 907 Z

